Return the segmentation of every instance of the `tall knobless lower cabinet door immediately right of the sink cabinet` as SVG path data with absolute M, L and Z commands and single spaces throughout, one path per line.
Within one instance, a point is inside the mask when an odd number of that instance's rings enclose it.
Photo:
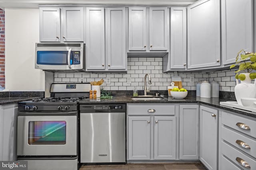
M 180 159 L 199 159 L 198 105 L 180 105 Z

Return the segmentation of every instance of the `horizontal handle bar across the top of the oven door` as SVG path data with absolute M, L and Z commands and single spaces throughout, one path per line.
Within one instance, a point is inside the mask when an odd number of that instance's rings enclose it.
M 72 115 L 77 115 L 78 111 L 37 111 L 37 112 L 28 112 L 28 111 L 19 111 L 18 116 L 60 116 L 60 115 L 65 115 L 65 116 L 72 116 Z

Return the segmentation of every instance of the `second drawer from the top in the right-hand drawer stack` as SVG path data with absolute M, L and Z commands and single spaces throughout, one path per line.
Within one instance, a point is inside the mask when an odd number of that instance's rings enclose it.
M 221 127 L 221 138 L 256 158 L 256 141 L 223 126 Z

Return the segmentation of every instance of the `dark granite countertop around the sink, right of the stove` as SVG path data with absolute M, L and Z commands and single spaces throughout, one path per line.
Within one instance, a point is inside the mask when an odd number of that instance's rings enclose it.
M 126 103 L 179 103 L 179 104 L 185 104 L 185 103 L 198 103 L 198 104 L 204 104 L 212 107 L 217 107 L 220 109 L 224 109 L 227 111 L 232 111 L 235 113 L 239 113 L 242 115 L 247 115 L 250 117 L 255 117 L 255 113 L 250 113 L 249 111 L 241 111 L 241 110 L 236 110 L 224 106 L 220 106 L 220 102 L 226 102 L 226 101 L 236 101 L 234 99 L 229 99 L 229 98 L 200 98 L 196 96 L 187 96 L 184 99 L 173 99 L 172 97 L 165 97 L 164 100 L 137 100 L 134 101 L 132 100 L 131 96 L 118 96 L 118 97 L 113 97 L 112 99 L 96 99 L 96 100 L 82 100 L 79 102 L 79 104 L 126 104 Z

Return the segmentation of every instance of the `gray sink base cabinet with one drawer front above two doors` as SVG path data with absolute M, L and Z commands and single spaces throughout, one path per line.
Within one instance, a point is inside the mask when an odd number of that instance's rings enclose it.
M 127 160 L 176 159 L 173 105 L 127 104 L 127 113 Z

